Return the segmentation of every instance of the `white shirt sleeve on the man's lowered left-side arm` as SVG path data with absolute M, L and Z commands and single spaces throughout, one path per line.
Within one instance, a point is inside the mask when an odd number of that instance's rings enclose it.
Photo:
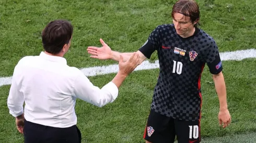
M 14 117 L 17 117 L 24 112 L 24 95 L 19 91 L 19 87 L 16 82 L 18 76 L 19 75 L 17 75 L 17 69 L 15 68 L 13 78 L 11 80 L 9 96 L 7 98 L 7 106 L 9 108 L 9 113 Z

